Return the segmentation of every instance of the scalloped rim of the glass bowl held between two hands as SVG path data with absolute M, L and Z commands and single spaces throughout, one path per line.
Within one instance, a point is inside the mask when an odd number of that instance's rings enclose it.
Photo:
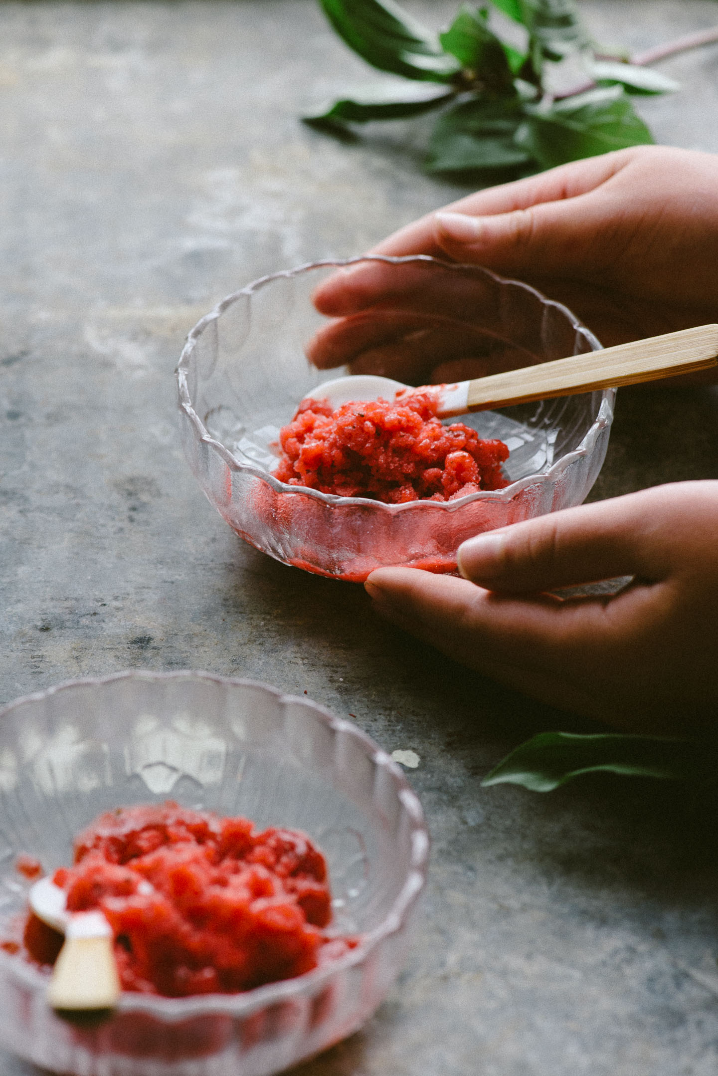
M 613 422 L 613 406 L 616 397 L 615 388 L 603 388 L 601 390 L 601 405 L 599 407 L 598 414 L 593 420 L 592 424 L 586 430 L 580 443 L 577 448 L 568 452 L 565 455 L 557 459 L 547 470 L 537 471 L 533 475 L 526 475 L 523 478 L 517 479 L 509 485 L 504 486 L 503 490 L 479 490 L 476 493 L 469 493 L 464 497 L 458 497 L 456 500 L 449 501 L 435 501 L 435 500 L 411 500 L 401 505 L 389 505 L 383 500 L 374 500 L 371 497 L 342 497 L 335 493 L 322 493 L 320 490 L 313 490 L 311 486 L 306 485 L 288 485 L 286 482 L 281 482 L 269 471 L 262 470 L 262 468 L 257 467 L 253 464 L 246 464 L 236 458 L 229 449 L 222 444 L 221 441 L 213 437 L 206 429 L 204 423 L 200 419 L 199 414 L 195 410 L 192 405 L 191 395 L 189 393 L 189 386 L 187 383 L 187 374 L 189 369 L 189 363 L 195 351 L 195 345 L 202 335 L 204 329 L 212 322 L 217 321 L 218 317 L 236 302 L 238 299 L 243 296 L 252 297 L 255 292 L 260 291 L 268 284 L 271 284 L 275 280 L 288 280 L 292 277 L 298 277 L 301 273 L 306 272 L 310 269 L 320 269 L 335 267 L 338 269 L 345 268 L 346 266 L 358 265 L 361 261 L 383 261 L 388 265 L 406 265 L 415 261 L 430 263 L 435 265 L 441 265 L 442 268 L 448 269 L 450 271 L 463 271 L 469 270 L 476 275 L 487 277 L 489 280 L 499 284 L 511 284 L 527 292 L 528 294 L 536 297 L 541 300 L 544 306 L 554 307 L 559 310 L 573 326 L 574 330 L 584 337 L 584 339 L 590 344 L 591 351 L 601 351 L 602 345 L 598 338 L 586 325 L 580 322 L 576 315 L 562 302 L 558 302 L 556 299 L 549 299 L 537 288 L 532 287 L 531 284 L 527 284 L 520 280 L 514 280 L 511 277 L 502 277 L 500 273 L 496 273 L 490 269 L 486 269 L 484 266 L 466 265 L 459 261 L 444 261 L 441 258 L 434 258 L 429 254 L 410 254 L 403 255 L 401 257 L 393 257 L 388 254 L 364 254 L 356 255 L 350 258 L 322 258 L 317 261 L 305 261 L 302 265 L 295 266 L 291 269 L 281 269 L 277 272 L 268 273 L 264 277 L 259 277 L 257 280 L 252 281 L 244 287 L 240 288 L 238 292 L 232 292 L 230 295 L 225 296 L 220 299 L 216 306 L 206 313 L 199 322 L 189 330 L 187 334 L 187 339 L 185 345 L 180 355 L 180 360 L 175 367 L 175 378 L 177 383 L 177 396 L 178 396 L 178 407 L 183 411 L 192 426 L 195 436 L 197 440 L 205 444 L 210 450 L 217 453 L 220 458 L 227 464 L 227 466 L 232 471 L 239 471 L 246 475 L 252 475 L 253 477 L 259 479 L 269 485 L 275 493 L 281 493 L 286 496 L 304 496 L 314 497 L 316 500 L 330 506 L 338 506 L 346 508 L 351 505 L 357 505 L 361 507 L 371 507 L 375 511 L 388 512 L 390 515 L 399 514 L 400 512 L 407 511 L 427 511 L 433 510 L 439 512 L 455 512 L 458 509 L 463 508 L 465 505 L 472 504 L 475 500 L 489 500 L 489 501 L 503 501 L 508 502 L 513 498 L 526 490 L 528 486 L 534 485 L 536 482 L 556 482 L 559 477 L 563 473 L 566 467 L 570 467 L 575 461 L 585 456 L 591 451 L 595 441 L 602 431 L 612 424 Z

